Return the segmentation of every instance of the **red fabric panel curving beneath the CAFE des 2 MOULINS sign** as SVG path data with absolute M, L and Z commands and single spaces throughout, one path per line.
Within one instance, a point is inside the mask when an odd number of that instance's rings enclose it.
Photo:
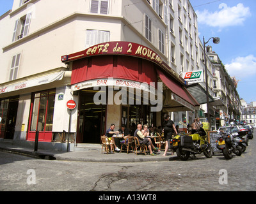
M 100 55 L 73 62 L 72 85 L 109 77 L 146 82 L 147 84 L 157 82 L 154 64 L 137 57 Z

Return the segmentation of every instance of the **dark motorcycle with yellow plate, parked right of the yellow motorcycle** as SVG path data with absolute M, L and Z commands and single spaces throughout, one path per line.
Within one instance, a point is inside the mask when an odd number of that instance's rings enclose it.
M 216 147 L 222 151 L 225 159 L 232 159 L 232 152 L 234 152 L 236 156 L 241 156 L 242 148 L 238 145 L 232 134 L 221 133 L 216 142 Z

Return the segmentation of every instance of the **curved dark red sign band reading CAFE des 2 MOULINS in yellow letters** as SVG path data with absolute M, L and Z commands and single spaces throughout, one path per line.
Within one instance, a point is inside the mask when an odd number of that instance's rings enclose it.
M 70 55 L 61 56 L 61 62 L 67 63 L 84 57 L 91 57 L 95 55 L 131 55 L 152 61 L 163 69 L 168 71 L 172 77 L 176 78 L 180 83 L 185 84 L 182 77 L 179 76 L 170 66 L 168 66 L 156 52 L 137 43 L 126 41 L 111 41 L 107 43 L 100 43 L 94 45 L 81 52 L 76 52 Z

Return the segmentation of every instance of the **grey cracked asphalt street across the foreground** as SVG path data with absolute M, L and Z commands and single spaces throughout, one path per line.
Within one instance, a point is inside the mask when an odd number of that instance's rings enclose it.
M 0 152 L 0 191 L 256 191 L 255 149 L 256 139 L 231 160 L 202 154 L 141 163 L 48 161 Z

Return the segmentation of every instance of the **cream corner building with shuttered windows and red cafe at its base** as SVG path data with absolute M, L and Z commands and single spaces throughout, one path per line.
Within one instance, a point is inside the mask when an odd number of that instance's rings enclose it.
M 0 138 L 33 141 L 38 131 L 41 142 L 63 142 L 63 131 L 70 131 L 75 143 L 99 143 L 99 136 L 112 123 L 116 129 L 132 122 L 159 126 L 163 113 L 169 112 L 185 128 L 204 110 L 181 77 L 182 72 L 204 68 L 196 14 L 187 0 L 14 0 L 12 10 L 0 17 L 0 28 Z M 96 52 L 95 45 L 107 44 L 109 55 L 76 58 L 79 52 Z M 136 47 L 132 54 L 131 47 Z M 106 72 L 97 69 L 84 77 L 83 71 L 99 66 Z M 119 69 L 114 72 L 116 67 L 122 67 L 122 75 Z M 139 85 L 163 82 L 163 110 L 150 112 L 150 105 L 108 101 L 93 105 L 97 92 L 93 86 L 77 89 L 79 83 L 104 84 L 108 78 Z M 71 114 L 69 99 L 77 103 Z

